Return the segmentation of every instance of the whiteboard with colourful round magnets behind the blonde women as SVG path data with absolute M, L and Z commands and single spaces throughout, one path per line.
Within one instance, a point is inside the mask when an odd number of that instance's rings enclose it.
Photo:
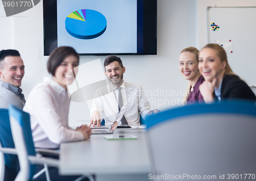
M 256 85 L 256 7 L 208 7 L 207 10 L 208 43 L 231 40 L 228 64 L 249 86 Z M 219 30 L 212 31 L 211 22 Z

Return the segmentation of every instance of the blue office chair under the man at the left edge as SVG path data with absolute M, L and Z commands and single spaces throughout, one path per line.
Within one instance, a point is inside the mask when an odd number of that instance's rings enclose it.
M 19 163 L 7 109 L 0 109 L 0 152 L 2 157 L 0 180 L 14 180 L 19 171 Z

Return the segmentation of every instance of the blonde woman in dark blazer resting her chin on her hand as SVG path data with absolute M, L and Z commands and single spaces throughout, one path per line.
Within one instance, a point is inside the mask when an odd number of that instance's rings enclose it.
M 201 49 L 198 68 L 205 80 L 199 87 L 205 103 L 227 99 L 256 100 L 249 86 L 231 70 L 220 45 L 207 44 Z

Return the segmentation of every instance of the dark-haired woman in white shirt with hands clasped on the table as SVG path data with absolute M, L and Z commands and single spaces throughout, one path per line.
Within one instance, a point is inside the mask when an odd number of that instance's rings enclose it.
M 30 92 L 24 111 L 30 114 L 35 147 L 58 149 L 62 142 L 90 138 L 89 126 L 82 125 L 73 130 L 68 125 L 70 98 L 67 85 L 74 81 L 73 71 L 78 65 L 79 56 L 72 47 L 55 48 L 47 63 L 52 78 L 45 77 L 44 82 Z M 38 166 L 37 170 L 41 168 Z M 56 168 L 50 169 L 50 176 L 53 180 L 74 180 L 78 177 L 59 176 Z M 38 177 L 36 180 L 41 179 L 44 178 Z

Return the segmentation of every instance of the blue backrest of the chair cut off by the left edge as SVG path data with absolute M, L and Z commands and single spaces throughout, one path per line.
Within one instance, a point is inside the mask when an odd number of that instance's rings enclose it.
M 8 109 L 0 109 L 0 142 L 3 147 L 15 148 L 11 133 Z M 18 157 L 15 154 L 4 154 L 5 165 L 16 172 Z

